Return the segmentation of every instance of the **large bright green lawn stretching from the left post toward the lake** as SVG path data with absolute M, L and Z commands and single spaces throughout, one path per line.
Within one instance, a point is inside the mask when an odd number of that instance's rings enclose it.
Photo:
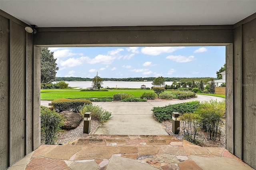
M 153 92 L 152 90 L 109 90 L 109 91 L 80 91 L 80 89 L 43 89 L 41 90 L 41 100 L 55 99 L 84 99 L 113 97 L 116 93 L 128 93 L 134 97 L 140 97 L 144 92 Z

